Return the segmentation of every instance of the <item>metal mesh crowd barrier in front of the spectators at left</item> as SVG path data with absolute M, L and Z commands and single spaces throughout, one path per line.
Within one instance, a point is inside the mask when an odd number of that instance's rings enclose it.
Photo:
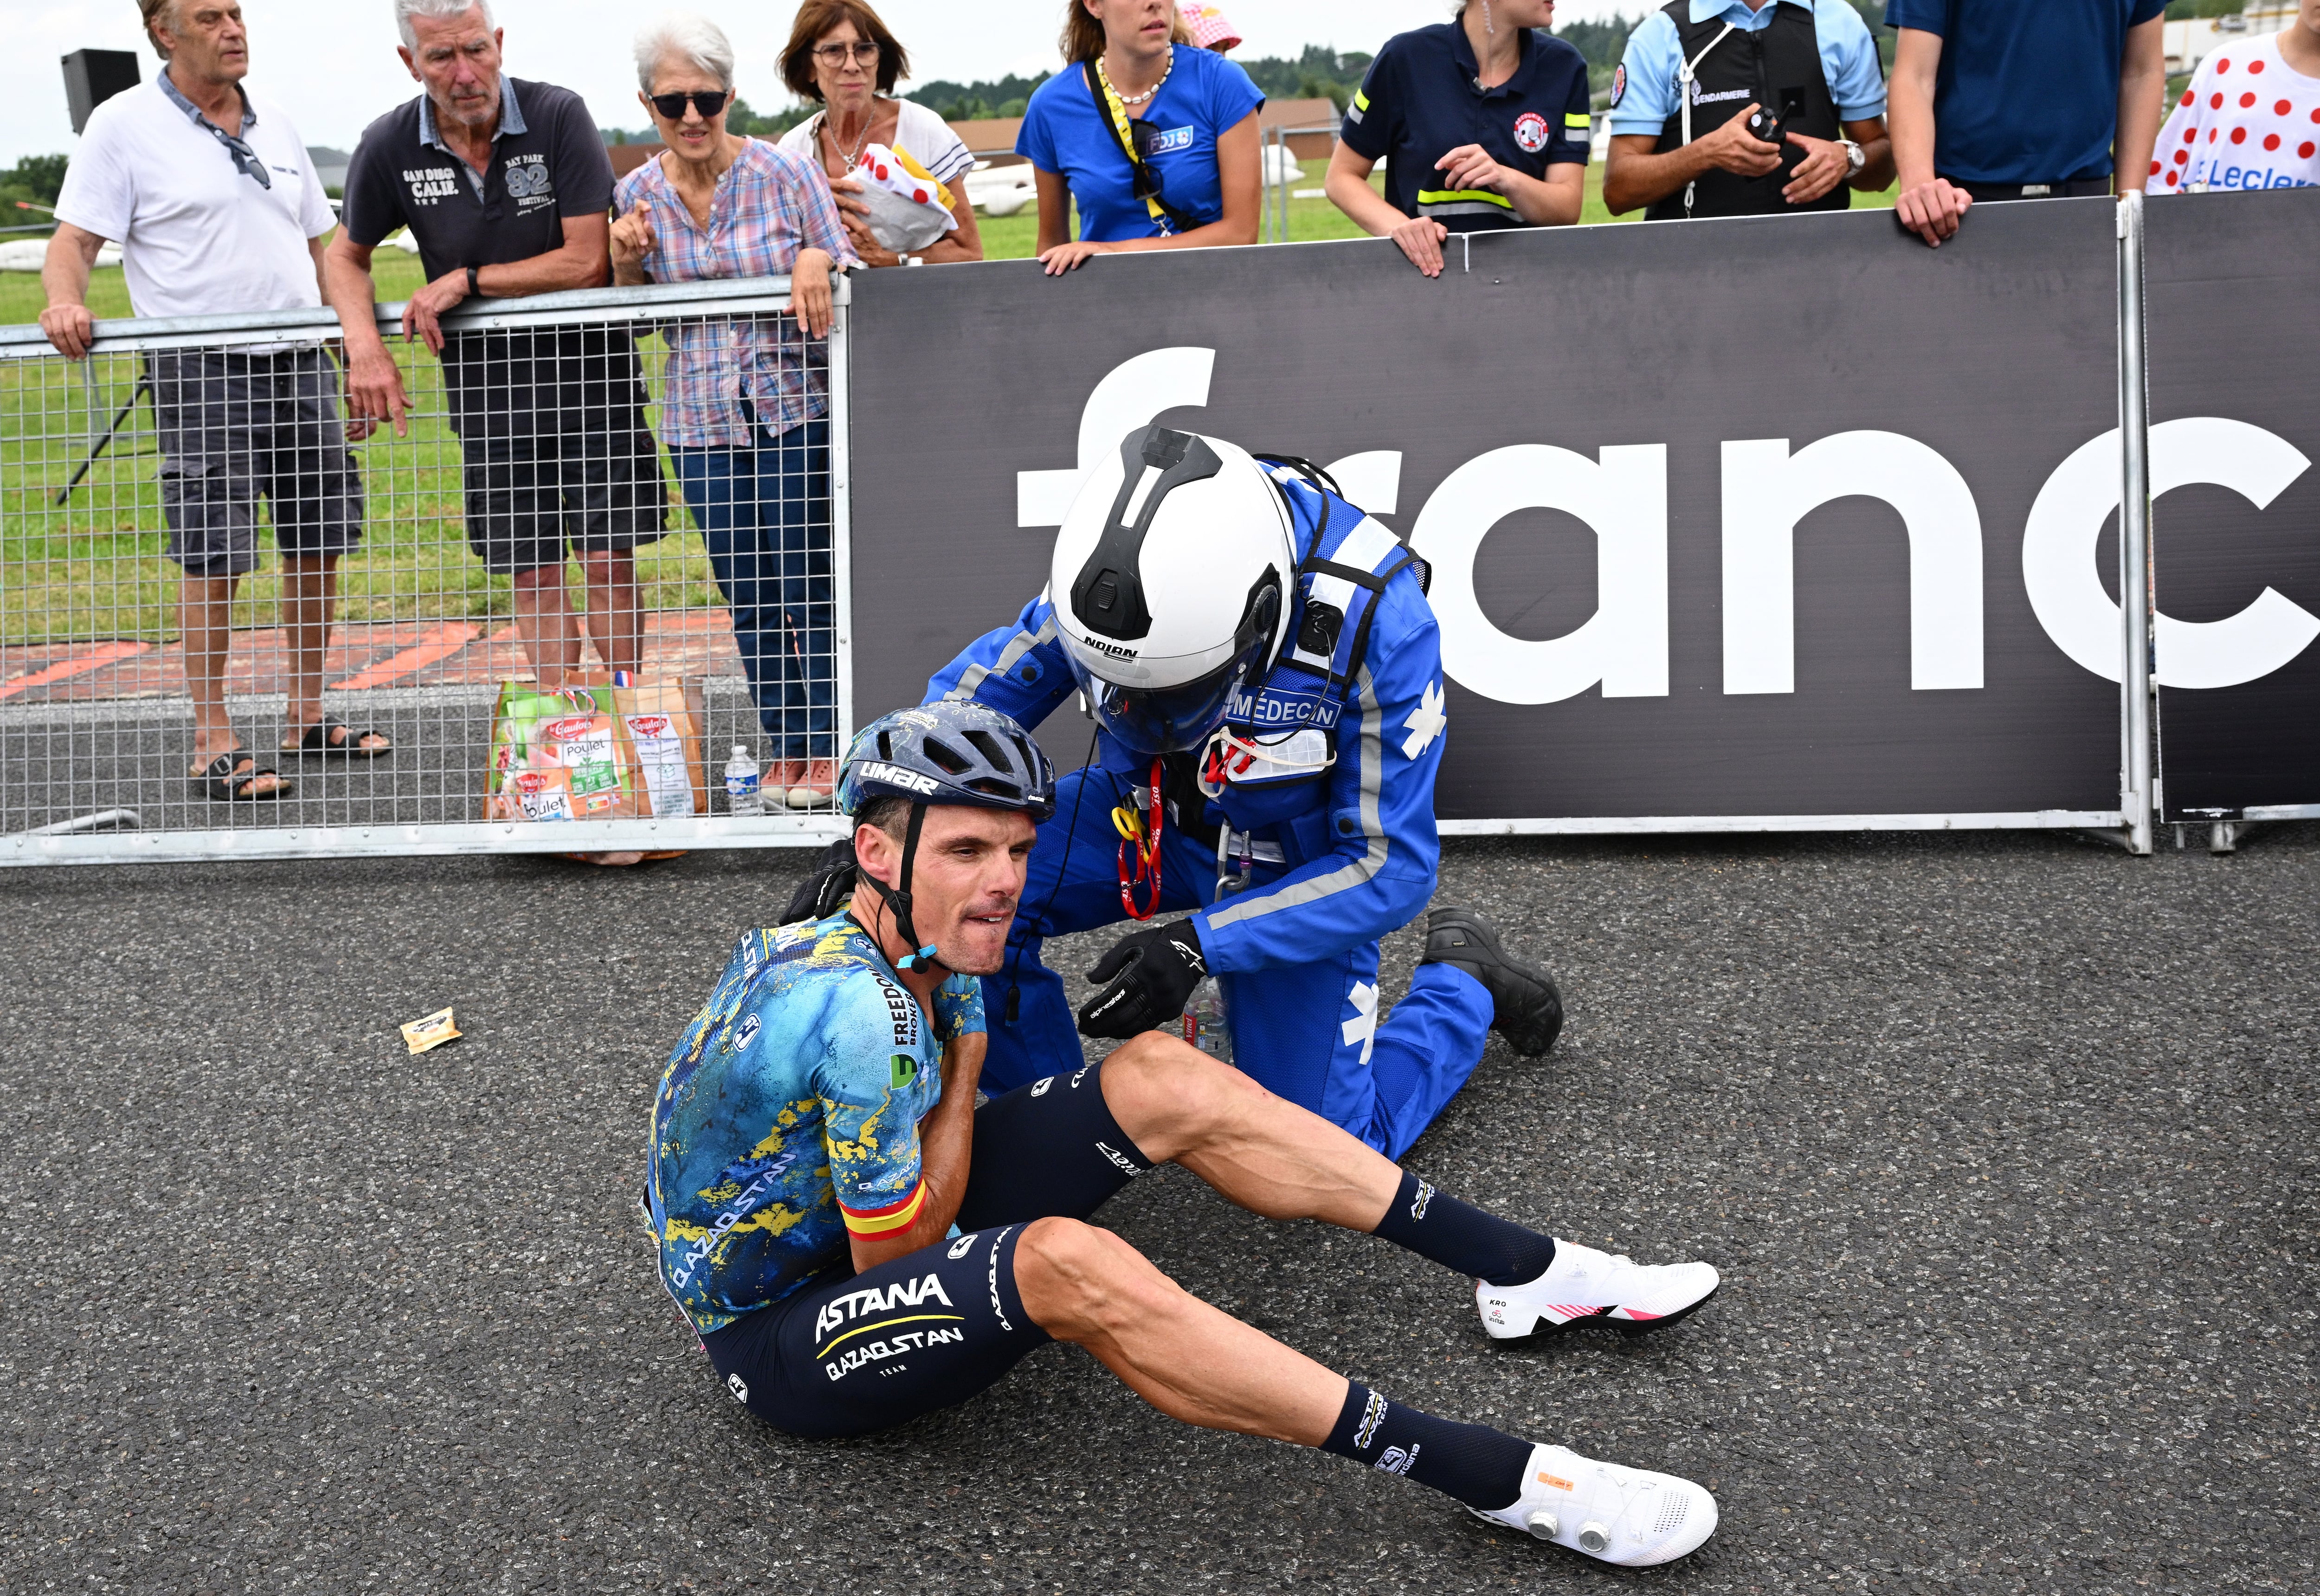
M 97 322 L 95 353 L 79 364 L 58 357 L 39 327 L 0 329 L 0 863 L 780 847 L 838 833 L 835 812 L 786 810 L 775 791 L 761 817 L 726 812 L 728 752 L 742 745 L 763 763 L 775 749 L 745 680 L 749 643 L 735 640 L 703 534 L 657 443 L 673 341 L 701 339 L 708 362 L 735 360 L 747 339 L 798 341 L 789 281 L 462 306 L 445 332 L 469 341 L 480 378 L 466 383 L 457 418 L 438 360 L 401 341 L 401 311 L 380 306 L 378 325 L 413 399 L 408 436 L 380 427 L 353 441 L 353 485 L 336 464 L 346 411 L 329 311 Z M 761 659 L 780 647 L 791 673 L 828 682 L 838 749 L 854 726 L 847 318 L 840 281 L 831 339 L 805 346 L 831 422 L 831 496 L 803 508 L 828 524 L 828 626 L 749 633 Z M 710 336 L 717 329 L 726 336 Z M 251 371 L 271 373 L 271 385 L 232 385 Z M 731 369 L 712 376 L 719 392 L 735 392 Z M 643 438 L 636 378 L 647 399 Z M 313 390 L 336 401 L 334 420 L 313 411 Z M 165 425 L 176 429 L 167 452 L 204 459 L 206 473 L 165 480 Z M 543 434 L 554 434 L 545 452 Z M 582 527 L 633 536 L 666 527 L 633 547 L 633 601 L 617 564 L 596 592 L 578 559 L 566 566 L 568 629 L 582 638 L 561 677 L 566 719 L 543 719 L 534 703 L 529 719 L 501 726 L 503 691 L 557 687 L 536 661 L 557 666 L 561 654 L 548 589 L 520 610 L 510 575 L 490 573 L 469 543 L 464 489 L 478 469 L 494 494 L 487 536 L 541 531 L 559 503 L 566 517 L 599 513 Z M 183 619 L 206 626 L 218 612 L 181 612 L 181 566 L 165 552 L 165 492 L 188 506 L 183 520 L 209 527 L 204 547 L 230 550 L 232 510 L 218 496 L 223 487 L 232 499 L 237 478 L 274 489 L 227 610 L 223 680 L 241 747 L 292 784 L 258 803 L 209 798 L 190 779 L 188 661 L 200 666 L 204 652 L 188 650 Z M 529 527 L 517 517 L 527 506 Z M 320 654 L 311 624 L 320 566 L 302 561 L 285 587 L 276 522 L 309 550 L 360 534 L 336 564 Z M 789 575 L 812 573 L 798 534 L 791 543 Z M 773 575 L 759 573 L 761 589 Z M 534 645 L 541 636 L 548 643 Z M 290 696 L 316 668 L 325 714 L 387 733 L 392 754 L 281 752 Z M 626 675 L 615 680 L 617 668 Z M 529 814 L 575 819 L 520 819 Z

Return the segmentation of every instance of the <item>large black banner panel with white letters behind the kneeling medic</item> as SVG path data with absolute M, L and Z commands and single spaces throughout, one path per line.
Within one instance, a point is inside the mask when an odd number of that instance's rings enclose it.
M 1487 234 L 1436 281 L 1348 241 L 854 295 L 856 721 L 1009 622 L 1076 466 L 1165 420 L 1341 462 L 1434 561 L 1445 821 L 2116 817 L 2118 670 L 2023 564 L 2042 494 L 2097 536 L 2118 503 L 2104 200 L 1940 251 L 1856 211 Z

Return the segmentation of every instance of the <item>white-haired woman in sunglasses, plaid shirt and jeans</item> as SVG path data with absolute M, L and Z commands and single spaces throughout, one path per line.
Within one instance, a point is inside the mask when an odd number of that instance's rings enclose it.
M 636 79 L 668 151 L 612 195 L 612 281 L 791 281 L 789 315 L 664 329 L 661 441 L 773 740 L 763 791 L 812 810 L 838 791 L 831 269 L 861 262 L 810 162 L 726 130 L 733 46 L 717 23 L 673 14 L 647 26 Z

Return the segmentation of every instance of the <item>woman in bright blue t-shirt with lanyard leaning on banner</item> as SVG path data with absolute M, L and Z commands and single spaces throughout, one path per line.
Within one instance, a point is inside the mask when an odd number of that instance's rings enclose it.
M 1257 241 L 1264 95 L 1181 32 L 1174 0 L 1072 0 L 1072 65 L 1039 84 L 1016 135 L 1039 174 L 1049 276 L 1114 251 Z M 1067 225 L 1074 200 L 1079 239 Z

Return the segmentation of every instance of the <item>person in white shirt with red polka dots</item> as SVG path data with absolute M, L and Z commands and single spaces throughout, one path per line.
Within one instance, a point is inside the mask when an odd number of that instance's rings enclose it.
M 2199 63 L 2160 130 L 2153 195 L 2320 186 L 2320 0 Z

